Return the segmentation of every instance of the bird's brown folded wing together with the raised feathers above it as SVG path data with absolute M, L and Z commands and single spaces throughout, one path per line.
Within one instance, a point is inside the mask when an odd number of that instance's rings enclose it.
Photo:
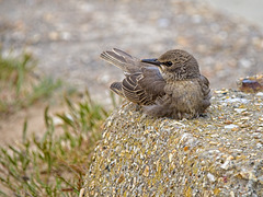
M 144 63 L 117 48 L 102 53 L 101 58 L 125 72 L 126 78 L 122 82 L 111 85 L 111 90 L 118 95 L 141 105 L 155 104 L 158 97 L 164 95 L 165 81 L 157 67 Z

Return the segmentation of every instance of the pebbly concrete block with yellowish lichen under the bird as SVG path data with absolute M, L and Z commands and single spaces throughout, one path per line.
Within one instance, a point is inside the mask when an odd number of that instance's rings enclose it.
M 123 104 L 105 123 L 84 195 L 263 196 L 263 93 L 214 91 L 190 120 Z

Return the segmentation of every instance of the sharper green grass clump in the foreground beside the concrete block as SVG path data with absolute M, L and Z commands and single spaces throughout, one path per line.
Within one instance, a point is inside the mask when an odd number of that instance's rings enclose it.
M 45 109 L 44 135 L 28 138 L 25 121 L 22 143 L 0 149 L 0 181 L 5 188 L 0 194 L 76 196 L 79 193 L 108 113 L 93 103 L 88 92 L 77 104 L 68 97 L 65 101 L 68 113 L 52 117 L 48 107 Z M 55 124 L 56 118 L 61 123 Z

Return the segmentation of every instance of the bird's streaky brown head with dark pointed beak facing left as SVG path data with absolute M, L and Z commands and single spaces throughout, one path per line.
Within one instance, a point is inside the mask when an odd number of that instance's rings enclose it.
M 158 59 L 141 59 L 141 62 L 156 65 L 167 79 L 185 80 L 199 77 L 199 67 L 196 59 L 187 51 L 168 50 Z

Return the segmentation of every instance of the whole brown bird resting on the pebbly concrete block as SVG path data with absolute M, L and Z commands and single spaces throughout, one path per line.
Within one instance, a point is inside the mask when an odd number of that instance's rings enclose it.
M 113 48 L 103 51 L 103 60 L 123 70 L 125 78 L 110 89 L 142 107 L 152 117 L 192 119 L 210 105 L 210 88 L 193 55 L 171 49 L 159 58 L 139 59 Z

